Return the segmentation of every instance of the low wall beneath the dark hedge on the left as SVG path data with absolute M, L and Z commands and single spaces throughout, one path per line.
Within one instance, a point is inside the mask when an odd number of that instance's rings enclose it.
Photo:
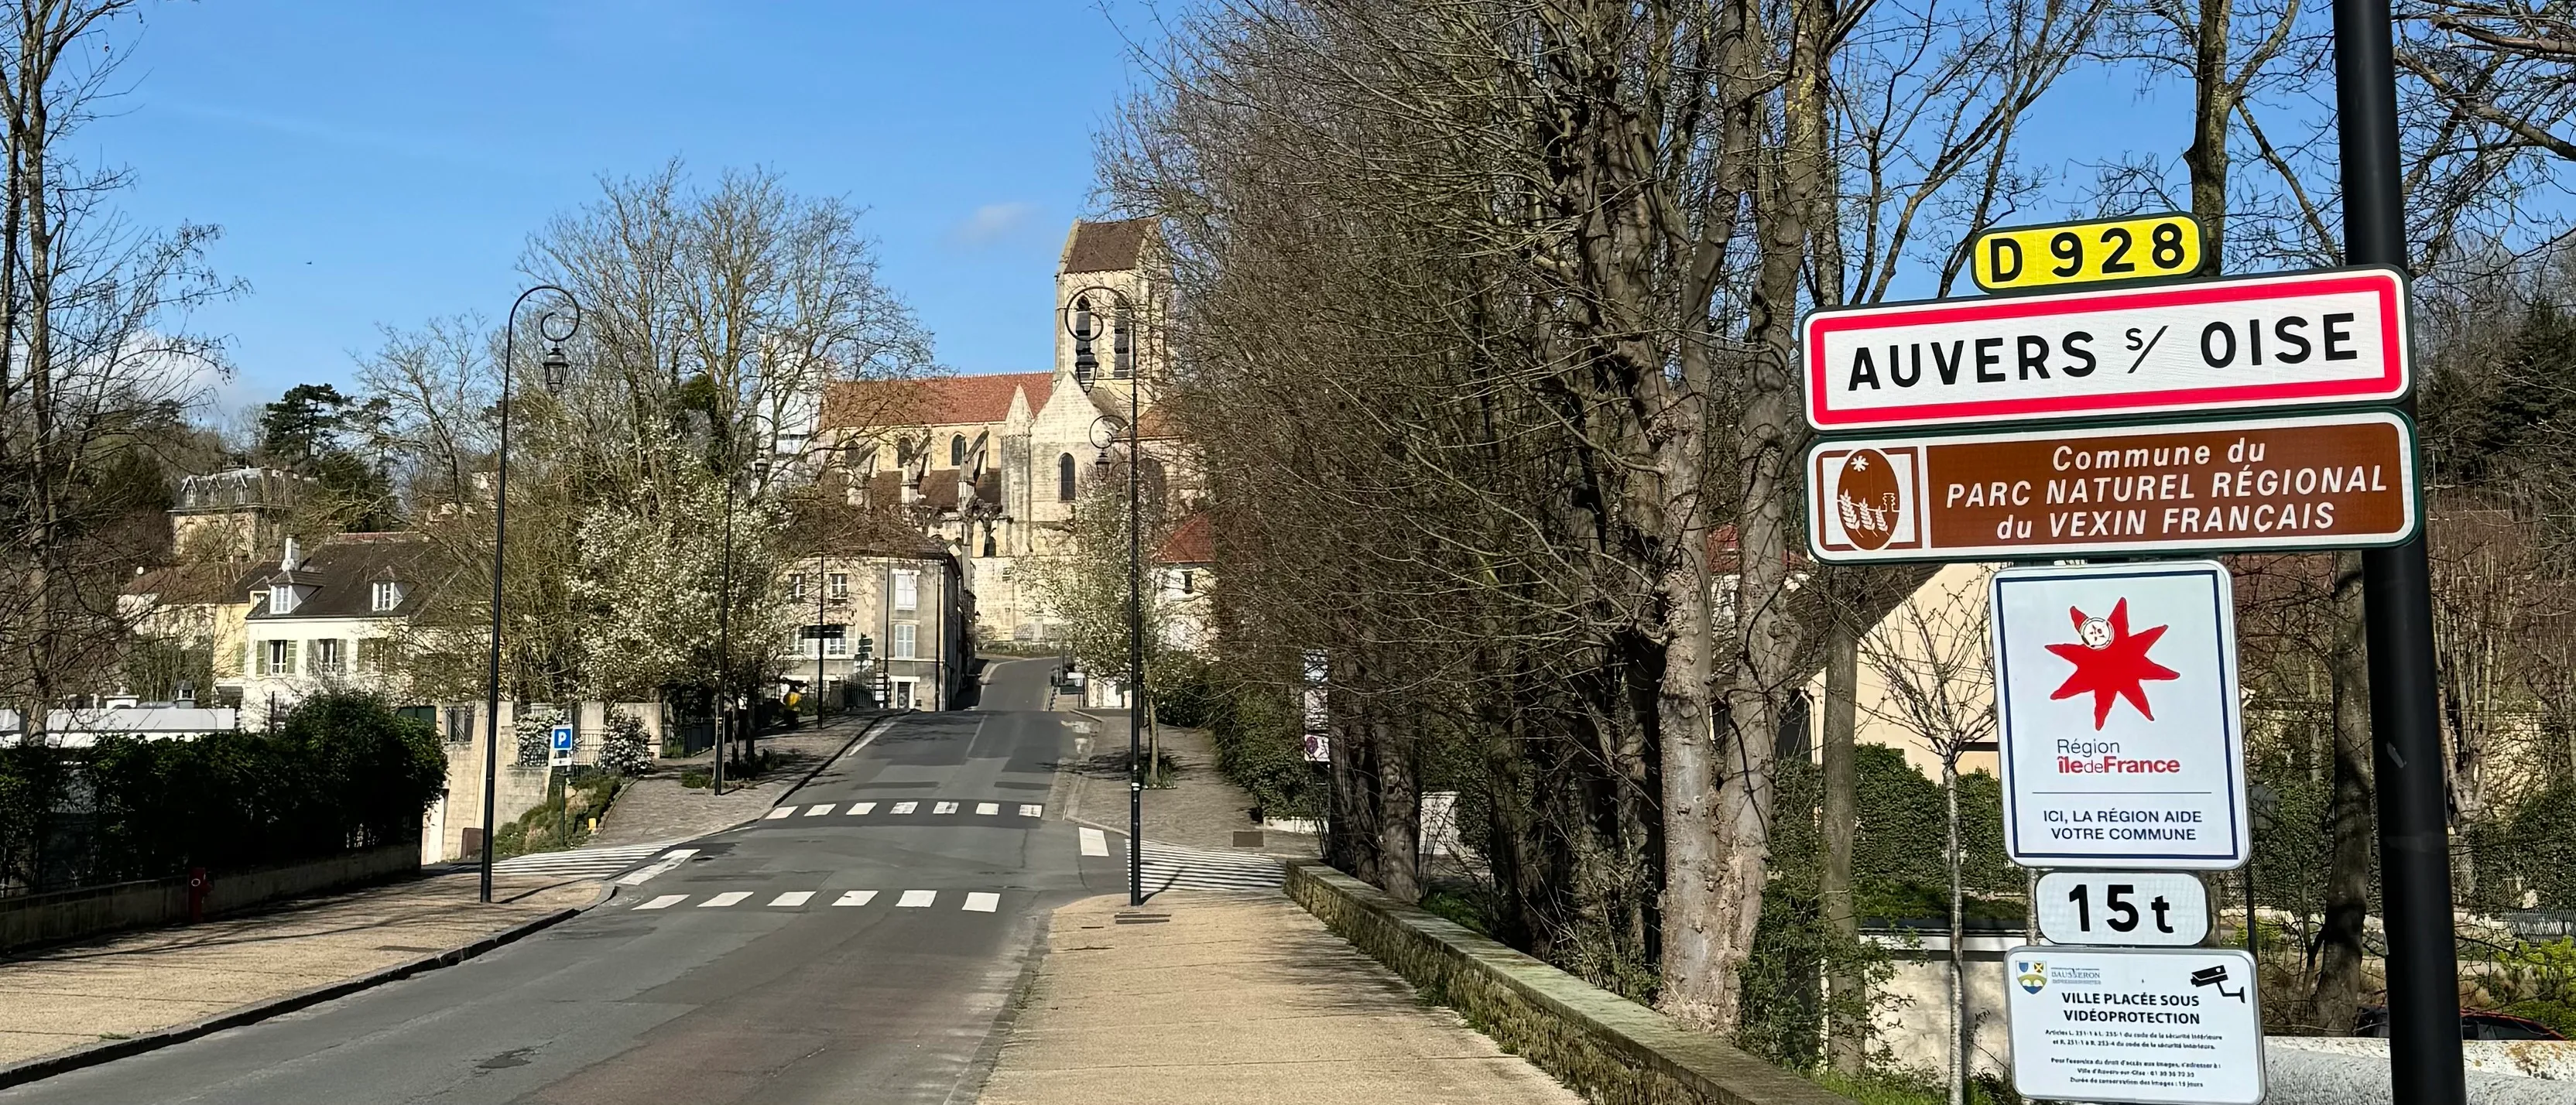
M 363 886 L 420 871 L 420 845 L 384 845 L 304 863 L 216 871 L 206 917 L 299 894 Z M 129 927 L 188 920 L 188 876 L 85 886 L 77 891 L 0 899 L 0 948 L 85 940 Z

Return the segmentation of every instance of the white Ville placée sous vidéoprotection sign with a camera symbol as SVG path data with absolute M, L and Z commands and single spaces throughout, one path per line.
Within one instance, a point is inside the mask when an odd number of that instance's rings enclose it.
M 2254 956 L 2233 948 L 2012 948 L 2012 1087 L 2032 1100 L 2257 1105 Z

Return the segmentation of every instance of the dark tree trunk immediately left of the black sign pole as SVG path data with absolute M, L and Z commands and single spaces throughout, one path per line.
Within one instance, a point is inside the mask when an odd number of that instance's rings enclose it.
M 2362 649 L 2357 551 L 2334 554 L 2334 644 L 2326 665 L 2334 683 L 2334 796 L 2326 804 L 2331 858 L 2326 925 L 2316 932 L 2311 1020 L 2326 1035 L 2347 1035 L 2362 1005 L 2362 920 L 2370 914 L 2370 858 L 2378 840 L 2370 819 L 2370 657 Z

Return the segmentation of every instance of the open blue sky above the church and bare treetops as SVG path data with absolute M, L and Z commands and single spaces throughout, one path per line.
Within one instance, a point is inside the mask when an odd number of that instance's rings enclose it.
M 1046 368 L 1051 273 L 1133 3 L 211 0 L 147 8 L 113 116 L 144 224 L 224 227 L 222 402 L 345 381 L 379 325 L 500 314 L 528 232 L 680 155 L 868 206 L 956 371 Z

